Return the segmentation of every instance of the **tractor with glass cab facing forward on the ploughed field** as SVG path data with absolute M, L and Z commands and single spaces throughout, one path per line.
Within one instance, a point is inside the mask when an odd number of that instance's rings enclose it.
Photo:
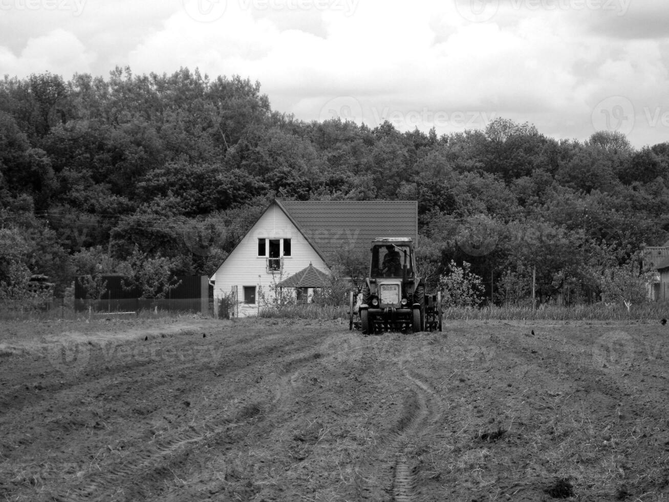
M 371 245 L 369 277 L 362 288 L 359 319 L 353 319 L 355 299 L 351 293 L 350 329 L 363 335 L 383 331 L 442 331 L 442 299 L 425 294 L 425 280 L 416 276 L 411 238 L 376 238 Z

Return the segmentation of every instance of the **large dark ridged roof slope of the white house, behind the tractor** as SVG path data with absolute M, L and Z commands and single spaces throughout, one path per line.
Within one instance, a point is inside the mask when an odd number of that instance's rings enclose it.
M 369 252 L 377 237 L 418 240 L 417 201 L 285 201 L 276 203 L 326 262 L 340 250 Z

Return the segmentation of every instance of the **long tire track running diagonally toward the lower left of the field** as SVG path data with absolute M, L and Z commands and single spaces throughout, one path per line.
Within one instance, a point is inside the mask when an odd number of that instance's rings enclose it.
M 324 341 L 320 347 L 320 349 L 332 348 L 332 341 Z M 193 456 L 197 457 L 197 454 L 192 455 L 191 452 L 197 450 L 205 442 L 215 440 L 217 436 L 229 432 L 231 428 L 249 426 L 254 420 L 254 424 L 265 420 L 276 420 L 289 408 L 287 399 L 296 387 L 296 380 L 300 375 L 300 369 L 295 371 L 293 369 L 320 359 L 323 355 L 320 349 L 310 347 L 298 351 L 298 355 L 294 355 L 292 359 L 280 365 L 276 373 L 270 374 L 276 377 L 277 382 L 272 400 L 247 404 L 241 410 L 237 410 L 234 416 L 211 416 L 205 420 L 207 425 L 211 424 L 208 430 L 191 428 L 189 431 L 180 432 L 170 440 L 160 442 L 150 450 L 141 452 L 131 462 L 122 465 L 115 464 L 110 471 L 99 475 L 98 479 L 82 487 L 70 488 L 66 493 L 57 495 L 54 499 L 58 502 L 90 501 L 93 497 L 99 499 L 101 496 L 106 499 L 111 495 L 123 493 L 123 486 L 136 487 L 147 484 L 147 481 L 153 481 L 151 484 L 157 485 L 161 479 L 173 475 L 170 469 L 173 464 L 187 463 Z M 249 394 L 254 394 L 254 390 L 255 388 L 251 388 Z M 201 475 L 196 475 L 195 481 L 199 477 Z M 169 489 L 153 499 L 156 501 L 169 500 L 180 490 L 178 487 Z

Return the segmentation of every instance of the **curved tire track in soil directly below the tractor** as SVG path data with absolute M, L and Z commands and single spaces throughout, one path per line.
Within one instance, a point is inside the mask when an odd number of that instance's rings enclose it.
M 405 444 L 411 437 L 434 427 L 432 422 L 442 414 L 442 406 L 428 384 L 411 375 L 403 365 L 400 367 L 405 380 L 413 386 L 413 393 L 405 400 L 405 411 L 395 428 L 379 440 L 359 465 L 355 495 L 361 501 L 419 500 L 415 468 L 405 454 Z

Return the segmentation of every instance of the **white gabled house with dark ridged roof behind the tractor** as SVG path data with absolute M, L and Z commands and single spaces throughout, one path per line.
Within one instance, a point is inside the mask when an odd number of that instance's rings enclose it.
M 276 284 L 310 264 L 329 272 L 337 253 L 369 252 L 377 237 L 417 242 L 417 201 L 284 201 L 270 203 L 211 277 L 215 303 L 232 315 L 257 315 Z

